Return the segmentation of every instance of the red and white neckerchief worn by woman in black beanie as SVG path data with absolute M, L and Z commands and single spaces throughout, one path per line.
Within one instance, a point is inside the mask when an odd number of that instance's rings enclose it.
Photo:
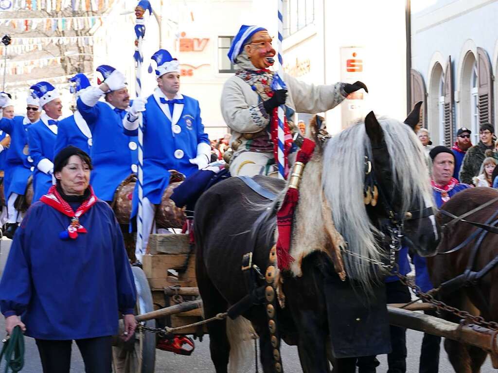
M 61 240 L 67 240 L 69 238 L 75 239 L 78 237 L 78 233 L 87 233 L 85 227 L 80 224 L 80 217 L 97 203 L 97 196 L 95 195 L 93 188 L 91 186 L 88 188 L 90 189 L 90 196 L 83 201 L 80 207 L 76 209 L 76 212 L 73 211 L 69 203 L 61 197 L 55 185 L 52 185 L 48 190 L 48 193 L 40 198 L 41 202 L 53 207 L 55 210 L 71 219 L 67 229 L 59 233 L 59 238 Z

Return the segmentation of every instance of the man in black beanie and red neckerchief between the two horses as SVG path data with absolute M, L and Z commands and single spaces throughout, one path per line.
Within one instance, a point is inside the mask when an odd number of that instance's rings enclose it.
M 439 209 L 455 194 L 471 186 L 461 184 L 453 177 L 456 156 L 451 149 L 446 146 L 436 146 L 430 151 L 429 156 L 432 159 L 432 193 Z M 426 258 L 414 254 L 413 264 L 415 265 L 415 283 L 424 292 L 433 289 Z M 436 315 L 434 314 L 434 316 Z M 424 334 L 420 351 L 419 373 L 438 372 L 440 344 L 441 337 Z

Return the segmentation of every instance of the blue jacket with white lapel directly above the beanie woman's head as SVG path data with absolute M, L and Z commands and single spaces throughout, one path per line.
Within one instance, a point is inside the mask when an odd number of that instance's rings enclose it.
M 64 118 L 57 125 L 54 156 L 66 146 L 73 145 L 90 155 L 92 147 L 92 132 L 80 113 Z

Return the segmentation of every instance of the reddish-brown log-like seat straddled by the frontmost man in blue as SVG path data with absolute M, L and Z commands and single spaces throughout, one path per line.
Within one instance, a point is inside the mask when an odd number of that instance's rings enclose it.
M 156 207 L 156 226 L 157 228 L 182 228 L 185 222 L 185 213 L 183 209 L 176 207 L 175 203 L 169 198 L 173 190 L 181 184 L 185 176 L 175 170 L 169 170 L 171 176 L 169 185 L 164 190 L 161 199 L 161 205 Z M 133 189 L 135 188 L 136 175 L 129 175 L 118 187 L 114 195 L 112 208 L 120 224 L 128 224 L 131 215 L 131 199 Z

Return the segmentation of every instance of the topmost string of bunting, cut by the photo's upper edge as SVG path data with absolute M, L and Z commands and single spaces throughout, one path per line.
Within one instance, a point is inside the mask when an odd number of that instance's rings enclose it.
M 0 11 L 46 10 L 102 11 L 114 0 L 0 0 Z

